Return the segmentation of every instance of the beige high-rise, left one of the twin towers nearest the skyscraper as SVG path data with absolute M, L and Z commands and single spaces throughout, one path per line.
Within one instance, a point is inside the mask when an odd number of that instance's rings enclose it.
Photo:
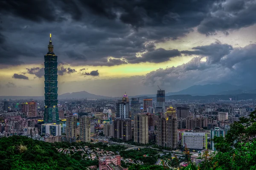
M 67 122 L 66 122 L 66 136 L 67 140 L 70 138 L 75 138 L 76 139 L 76 127 L 77 127 L 77 117 L 76 116 L 69 116 L 67 117 Z

